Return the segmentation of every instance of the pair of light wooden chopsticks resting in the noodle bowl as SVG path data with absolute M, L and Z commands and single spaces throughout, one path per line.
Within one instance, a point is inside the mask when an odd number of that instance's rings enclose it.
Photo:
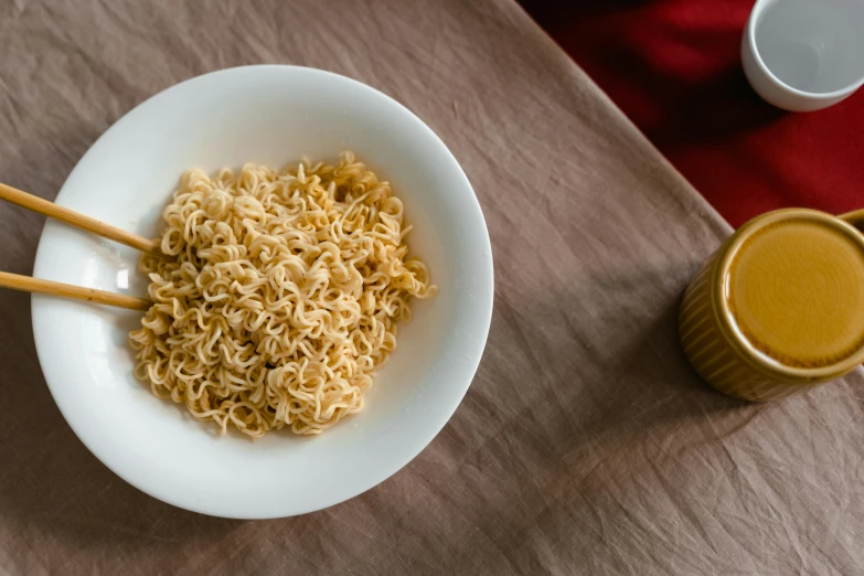
M 74 210 L 58 206 L 53 202 L 43 200 L 39 196 L 22 192 L 17 188 L 8 186 L 0 183 L 0 200 L 9 201 L 19 206 L 32 210 L 45 216 L 65 222 L 76 228 L 81 228 L 87 232 L 92 232 L 104 238 L 119 242 L 135 249 L 141 252 L 150 252 L 153 254 L 161 254 L 159 245 L 150 239 L 143 238 L 125 230 L 105 224 L 96 218 L 79 214 Z M 83 288 L 81 286 L 73 286 L 71 284 L 55 282 L 52 280 L 43 280 L 41 278 L 32 278 L 30 276 L 21 276 L 18 274 L 10 274 L 0 271 L 0 287 L 11 288 L 12 290 L 22 290 L 25 292 L 46 294 L 51 296 L 62 296 L 64 298 L 76 298 L 78 300 L 87 300 L 90 302 L 103 303 L 107 306 L 117 306 L 120 308 L 129 308 L 131 310 L 147 310 L 152 302 L 145 300 L 143 298 L 136 298 L 135 296 L 126 296 L 116 292 L 106 292 L 104 290 L 96 290 L 95 288 Z

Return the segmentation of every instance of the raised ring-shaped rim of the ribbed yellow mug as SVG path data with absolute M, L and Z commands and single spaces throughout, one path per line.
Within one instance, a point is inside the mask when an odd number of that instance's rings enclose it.
M 728 300 L 724 297 L 726 281 L 730 274 L 729 269 L 744 243 L 766 226 L 790 218 L 803 218 L 825 224 L 853 239 L 864 254 L 864 235 L 840 217 L 810 209 L 782 209 L 768 212 L 746 223 L 729 238 L 729 242 L 724 247 L 717 266 L 714 269 L 714 276 L 712 278 L 712 301 L 717 313 L 717 321 L 724 340 L 733 346 L 750 367 L 771 378 L 779 377 L 800 384 L 812 384 L 813 382 L 839 377 L 864 363 L 864 344 L 858 346 L 858 350 L 854 353 L 828 366 L 796 367 L 782 364 L 768 354 L 757 350 L 756 346 L 745 338 L 737 328 L 734 314 L 729 309 Z

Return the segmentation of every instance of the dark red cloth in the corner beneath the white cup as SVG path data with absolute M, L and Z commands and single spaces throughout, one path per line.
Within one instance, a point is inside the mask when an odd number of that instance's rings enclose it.
M 739 61 L 753 0 L 523 6 L 733 225 L 864 207 L 864 89 L 817 113 L 762 102 Z

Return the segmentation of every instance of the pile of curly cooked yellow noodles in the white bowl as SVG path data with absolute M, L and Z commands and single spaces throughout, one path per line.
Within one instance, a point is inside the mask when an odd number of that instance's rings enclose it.
M 351 152 L 186 172 L 163 217 L 135 375 L 223 433 L 320 434 L 360 412 L 409 298 L 435 292 L 402 202 Z

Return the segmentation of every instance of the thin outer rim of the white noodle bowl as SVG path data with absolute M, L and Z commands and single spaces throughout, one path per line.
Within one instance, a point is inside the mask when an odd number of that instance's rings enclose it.
M 180 89 L 181 87 L 188 87 L 191 84 L 205 82 L 205 79 L 212 79 L 214 77 L 231 77 L 235 74 L 246 74 L 246 73 L 253 73 L 253 72 L 262 72 L 262 73 L 276 73 L 276 74 L 284 74 L 284 73 L 300 73 L 300 74 L 312 74 L 312 75 L 320 75 L 320 76 L 327 76 L 330 81 L 340 82 L 343 84 L 350 84 L 353 88 L 365 90 L 370 94 L 374 94 L 375 98 L 381 98 L 387 103 L 388 106 L 395 107 L 395 111 L 397 114 L 402 115 L 408 115 L 409 119 L 413 119 L 416 121 L 418 128 L 420 131 L 425 132 L 424 138 L 428 138 L 428 141 L 433 145 L 435 145 L 439 152 L 445 154 L 448 160 L 451 162 L 450 169 L 458 171 L 457 175 L 460 177 L 460 179 L 465 183 L 465 191 L 470 192 L 470 194 L 466 194 L 466 202 L 471 204 L 472 211 L 476 212 L 477 216 L 479 216 L 479 223 L 482 224 L 482 226 L 478 226 L 478 234 L 479 239 L 482 242 L 483 246 L 483 255 L 484 255 L 484 263 L 487 263 L 486 266 L 483 266 L 482 269 L 474 270 L 477 276 L 480 278 L 479 284 L 482 285 L 482 291 L 486 292 L 486 295 L 478 295 L 476 296 L 486 296 L 484 298 L 477 298 L 477 312 L 478 312 L 478 320 L 476 322 L 477 329 L 478 329 L 478 335 L 482 335 L 482 339 L 480 339 L 478 343 L 477 354 L 474 358 L 471 358 L 470 361 L 466 363 L 468 366 L 468 370 L 466 373 L 466 382 L 459 386 L 458 394 L 454 393 L 451 396 L 449 396 L 448 404 L 445 406 L 440 406 L 439 413 L 440 418 L 436 420 L 435 426 L 429 426 L 427 428 L 422 429 L 418 431 L 416 439 L 414 439 L 410 442 L 410 446 L 405 448 L 399 457 L 393 458 L 388 460 L 388 465 L 384 466 L 381 465 L 378 470 L 372 474 L 374 479 L 372 481 L 365 482 L 363 486 L 359 486 L 355 489 L 345 491 L 344 494 L 340 494 L 339 498 L 334 499 L 333 501 L 323 504 L 323 505 L 311 505 L 311 506 L 305 506 L 302 504 L 300 505 L 294 505 L 294 506 L 282 506 L 281 509 L 278 505 L 274 505 L 273 513 L 267 514 L 245 514 L 245 513 L 235 513 L 235 512 L 225 512 L 222 510 L 215 510 L 211 508 L 210 505 L 203 505 L 201 503 L 190 503 L 185 502 L 182 499 L 173 498 L 171 494 L 171 489 L 164 489 L 166 484 L 162 484 L 161 487 L 152 487 L 147 484 L 146 482 L 140 481 L 138 478 L 134 478 L 134 474 L 127 473 L 126 470 L 124 470 L 122 466 L 118 466 L 115 459 L 111 458 L 111 455 L 108 454 L 110 450 L 103 449 L 99 446 L 97 446 L 98 442 L 90 441 L 92 438 L 88 438 L 89 434 L 86 430 L 83 430 L 76 423 L 75 418 L 71 417 L 70 410 L 71 407 L 67 405 L 64 405 L 63 402 L 60 402 L 57 399 L 57 395 L 55 394 L 55 387 L 62 386 L 62 383 L 55 382 L 52 384 L 52 380 L 49 377 L 47 370 L 45 366 L 50 365 L 51 363 L 47 362 L 47 358 L 45 354 L 49 352 L 45 350 L 46 343 L 44 338 L 40 338 L 40 333 L 43 329 L 49 329 L 49 327 L 40 327 L 39 322 L 39 314 L 38 310 L 42 306 L 40 302 L 44 302 L 45 300 L 43 298 L 33 298 L 31 300 L 31 324 L 33 330 L 33 338 L 34 343 L 36 348 L 36 355 L 40 362 L 40 367 L 43 372 L 43 376 L 45 380 L 45 383 L 47 384 L 49 391 L 51 392 L 52 397 L 54 398 L 55 404 L 57 405 L 57 408 L 60 409 L 61 414 L 63 415 L 64 419 L 68 424 L 68 426 L 72 428 L 72 430 L 75 433 L 77 438 L 85 445 L 85 447 L 93 454 L 102 463 L 104 463 L 109 470 L 111 470 L 115 474 L 120 477 L 126 482 L 130 483 L 138 490 L 158 499 L 163 502 L 167 502 L 169 504 L 172 504 L 174 506 L 190 510 L 193 512 L 206 514 L 206 515 L 213 515 L 218 518 L 233 518 L 233 519 L 275 519 L 275 518 L 286 518 L 291 515 L 299 515 L 305 514 L 309 512 L 313 512 L 317 510 L 322 510 L 335 504 L 339 504 L 341 502 L 344 502 L 346 500 L 350 500 L 356 495 L 362 494 L 363 492 L 378 486 L 380 483 L 384 482 L 386 479 L 388 479 L 391 476 L 395 474 L 397 471 L 399 471 L 402 468 L 404 468 L 407 463 L 409 463 L 414 458 L 416 458 L 436 437 L 437 435 L 444 429 L 444 427 L 447 425 L 447 423 L 450 420 L 452 415 L 455 414 L 456 409 L 461 404 L 462 398 L 468 392 L 468 388 L 470 387 L 471 383 L 473 382 L 473 378 L 477 374 L 477 370 L 479 367 L 480 361 L 482 359 L 486 344 L 488 342 L 489 332 L 491 328 L 492 322 L 492 310 L 493 310 L 493 303 L 494 303 L 494 266 L 493 266 L 493 253 L 492 253 L 492 245 L 491 245 L 491 238 L 489 235 L 489 228 L 486 224 L 486 218 L 482 213 L 482 209 L 480 206 L 479 199 L 477 198 L 476 192 L 473 191 L 473 186 L 471 186 L 470 181 L 468 180 L 468 177 L 465 174 L 465 171 L 462 170 L 461 166 L 452 154 L 452 152 L 447 148 L 445 142 L 438 137 L 435 131 L 429 128 L 426 122 L 424 122 L 417 115 L 415 115 L 412 110 L 409 110 L 406 106 L 394 99 L 393 97 L 384 94 L 381 90 L 377 90 L 360 81 L 353 79 L 348 76 L 343 76 L 341 74 L 337 74 L 329 71 L 323 71 L 320 68 L 313 68 L 313 67 L 307 67 L 307 66 L 296 66 L 296 65 L 284 65 L 284 64 L 260 64 L 260 65 L 250 65 L 250 66 L 235 66 L 230 68 L 223 68 L 214 72 L 210 72 L 206 74 L 202 74 L 199 76 L 194 76 L 191 78 L 188 78 L 185 81 L 182 81 L 180 83 L 173 84 L 152 96 L 148 97 L 140 104 L 136 105 L 134 108 L 128 110 L 126 114 L 124 114 L 119 119 L 117 119 L 105 132 L 103 132 L 87 149 L 87 151 L 78 159 L 77 163 L 73 168 L 73 170 L 70 172 L 68 177 L 64 181 L 63 185 L 61 186 L 61 190 L 56 196 L 55 202 L 58 204 L 64 204 L 64 199 L 68 196 L 68 183 L 73 180 L 76 172 L 81 169 L 81 167 L 85 163 L 85 161 L 88 159 L 90 154 L 94 153 L 94 150 L 98 148 L 98 145 L 106 140 L 109 135 L 117 131 L 120 127 L 124 126 L 125 122 L 129 121 L 130 117 L 134 117 L 136 115 L 145 114 L 149 110 L 151 106 L 153 106 L 156 102 L 158 102 L 160 98 L 166 97 L 167 94 L 172 93 L 173 90 Z M 36 249 L 36 256 L 33 264 L 33 276 L 38 276 L 38 270 L 44 266 L 47 266 L 49 256 L 46 256 L 47 253 L 47 242 L 46 242 L 46 231 L 51 230 L 53 227 L 53 224 L 51 226 L 45 226 L 40 234 L 39 245 Z M 470 377 L 468 375 L 470 374 Z M 366 486 L 367 484 L 367 486 Z M 289 511 L 286 511 L 286 509 L 290 508 Z

